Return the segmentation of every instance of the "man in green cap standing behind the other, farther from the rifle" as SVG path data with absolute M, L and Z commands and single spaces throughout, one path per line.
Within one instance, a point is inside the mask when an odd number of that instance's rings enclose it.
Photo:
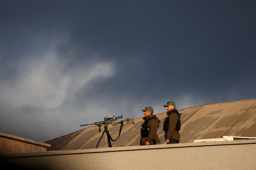
M 167 117 L 164 119 L 164 136 L 167 144 L 178 144 L 180 141 L 180 115 L 175 108 L 173 101 L 168 101 L 164 107 L 166 107 Z

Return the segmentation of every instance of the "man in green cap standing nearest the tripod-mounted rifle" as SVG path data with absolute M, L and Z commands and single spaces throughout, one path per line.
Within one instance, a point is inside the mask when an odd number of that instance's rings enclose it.
M 142 109 L 144 112 L 142 127 L 140 129 L 140 145 L 150 145 L 160 143 L 160 139 L 156 134 L 159 123 L 161 122 L 155 115 L 153 115 L 153 108 L 148 106 Z

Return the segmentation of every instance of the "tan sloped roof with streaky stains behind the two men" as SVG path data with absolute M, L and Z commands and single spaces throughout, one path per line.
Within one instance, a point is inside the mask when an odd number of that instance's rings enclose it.
M 223 103 L 205 104 L 196 107 L 180 109 L 181 129 L 180 143 L 191 143 L 196 139 L 221 138 L 222 136 L 256 137 L 256 99 L 240 100 Z M 166 113 L 155 114 L 161 121 L 157 134 L 164 144 L 163 122 Z M 135 124 L 124 122 L 120 137 L 111 141 L 112 147 L 136 146 L 140 142 L 140 127 L 142 117 L 134 118 Z M 120 125 L 108 125 L 112 139 L 118 137 Z M 68 135 L 58 137 L 45 143 L 51 144 L 48 151 L 76 150 L 95 148 L 101 132 L 96 126 L 87 127 Z M 108 147 L 105 134 L 98 148 Z

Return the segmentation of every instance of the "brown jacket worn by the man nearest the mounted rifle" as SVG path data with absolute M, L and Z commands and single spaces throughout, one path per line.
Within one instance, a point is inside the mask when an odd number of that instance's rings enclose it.
M 150 118 L 152 118 L 152 119 L 150 119 Z M 145 145 L 146 141 L 148 141 L 150 144 L 154 144 L 154 140 L 155 140 L 155 143 L 160 143 L 160 139 L 159 139 L 158 135 L 156 134 L 156 132 L 157 132 L 159 123 L 161 121 L 153 114 L 150 114 L 147 117 L 143 117 L 143 119 L 145 120 L 145 122 L 148 122 L 148 127 L 150 129 L 150 133 L 149 133 L 148 137 L 140 138 L 140 145 Z

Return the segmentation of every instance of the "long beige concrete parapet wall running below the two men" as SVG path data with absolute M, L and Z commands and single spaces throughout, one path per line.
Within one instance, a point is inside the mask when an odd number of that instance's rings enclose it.
M 255 169 L 255 150 L 255 140 L 241 140 L 12 154 L 0 160 L 24 169 Z

